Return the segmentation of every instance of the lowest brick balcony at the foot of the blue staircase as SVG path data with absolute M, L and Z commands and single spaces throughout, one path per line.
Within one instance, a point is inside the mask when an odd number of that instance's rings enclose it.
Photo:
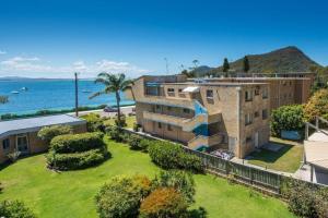
M 211 136 L 198 135 L 188 142 L 188 147 L 198 149 L 201 146 L 211 147 L 223 142 L 223 135 L 218 133 Z

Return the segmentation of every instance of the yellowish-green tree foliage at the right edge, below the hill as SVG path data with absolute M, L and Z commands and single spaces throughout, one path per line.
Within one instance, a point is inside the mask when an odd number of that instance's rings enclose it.
M 319 89 L 307 101 L 304 107 L 304 113 L 307 121 L 315 120 L 318 117 L 328 117 L 328 88 Z

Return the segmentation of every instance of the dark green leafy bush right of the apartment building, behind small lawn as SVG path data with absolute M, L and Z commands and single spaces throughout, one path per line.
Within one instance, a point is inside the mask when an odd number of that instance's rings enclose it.
M 282 130 L 302 130 L 304 128 L 303 106 L 282 106 L 273 110 L 271 113 L 270 128 L 273 136 L 280 136 Z

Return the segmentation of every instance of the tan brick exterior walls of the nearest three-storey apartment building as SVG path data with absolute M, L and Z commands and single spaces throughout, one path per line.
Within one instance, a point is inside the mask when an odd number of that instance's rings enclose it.
M 134 82 L 132 93 L 134 96 L 137 122 L 143 126 L 144 132 L 157 135 L 163 138 L 178 141 L 187 144 L 195 138 L 192 132 L 183 131 L 180 126 L 171 125 L 168 130 L 166 123 L 161 123 L 143 119 L 143 111 L 162 113 L 177 118 L 192 118 L 195 112 L 185 114 L 183 108 L 189 108 L 194 100 L 199 101 L 208 111 L 209 116 L 220 114 L 221 121 L 208 125 L 210 134 L 220 133 L 223 142 L 218 142 L 218 148 L 229 148 L 231 152 L 243 158 L 255 149 L 255 142 L 258 146 L 269 141 L 269 116 L 270 116 L 270 88 L 269 84 L 263 83 L 163 83 L 160 84 L 161 92 L 157 96 L 151 96 L 157 101 L 151 101 L 150 96 L 144 95 L 147 77 L 141 77 Z M 270 84 L 272 85 L 272 84 Z M 181 90 L 188 86 L 199 87 L 196 94 L 184 94 Z M 274 84 L 272 85 L 274 86 Z M 276 87 L 276 86 L 274 86 Z M 294 86 L 291 86 L 294 88 Z M 174 89 L 174 92 L 172 92 Z M 255 90 L 258 95 L 255 96 Z M 171 90 L 171 92 L 168 92 Z M 213 96 L 207 97 L 207 92 L 212 90 Z M 249 90 L 254 95 L 251 101 L 245 101 L 245 92 Z M 268 97 L 262 98 L 262 93 L 267 90 Z M 285 92 L 292 92 L 292 88 Z M 163 99 L 165 104 L 163 105 Z M 189 104 L 181 104 L 183 101 Z M 156 107 L 159 106 L 159 108 Z M 267 110 L 267 118 L 262 119 L 262 110 Z M 245 114 L 255 112 L 259 114 L 254 118 L 253 123 L 245 125 Z M 246 142 L 246 138 L 247 142 Z M 250 140 L 249 140 L 250 138 Z M 258 138 L 258 140 L 256 140 Z M 216 146 L 215 146 L 216 147 Z

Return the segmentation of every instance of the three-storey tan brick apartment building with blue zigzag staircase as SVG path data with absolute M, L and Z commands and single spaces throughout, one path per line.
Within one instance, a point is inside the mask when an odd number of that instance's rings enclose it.
M 261 82 L 141 76 L 130 93 L 143 131 L 192 149 L 226 149 L 244 158 L 269 141 L 270 87 Z

